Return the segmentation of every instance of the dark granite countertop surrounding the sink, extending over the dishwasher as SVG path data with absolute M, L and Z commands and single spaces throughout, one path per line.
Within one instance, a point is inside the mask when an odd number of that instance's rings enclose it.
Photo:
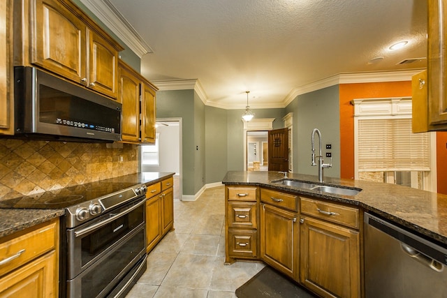
M 447 195 L 420 191 L 418 189 L 395 184 L 338 179 L 325 177 L 323 184 L 346 188 L 361 188 L 358 195 L 332 195 L 321 191 L 311 191 L 284 184 L 272 183 L 283 179 L 279 172 L 227 172 L 222 183 L 226 185 L 268 186 L 279 191 L 288 191 L 298 195 L 309 195 L 334 202 L 342 202 L 362 207 L 383 218 L 403 225 L 425 237 L 447 246 Z M 318 177 L 305 174 L 288 174 L 289 179 L 318 183 Z

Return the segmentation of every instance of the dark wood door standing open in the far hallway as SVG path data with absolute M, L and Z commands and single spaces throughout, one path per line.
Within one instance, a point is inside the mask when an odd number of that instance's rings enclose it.
M 268 132 L 268 170 L 288 171 L 288 128 Z

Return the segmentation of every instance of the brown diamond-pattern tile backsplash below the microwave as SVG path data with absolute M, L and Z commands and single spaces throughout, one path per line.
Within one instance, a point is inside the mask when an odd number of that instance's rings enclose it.
M 0 139 L 0 200 L 138 172 L 138 146 Z

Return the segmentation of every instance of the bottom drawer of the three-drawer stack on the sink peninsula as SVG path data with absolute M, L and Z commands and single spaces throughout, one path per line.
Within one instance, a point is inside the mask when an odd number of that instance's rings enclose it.
M 255 258 L 258 233 L 249 230 L 228 230 L 228 255 L 236 258 Z

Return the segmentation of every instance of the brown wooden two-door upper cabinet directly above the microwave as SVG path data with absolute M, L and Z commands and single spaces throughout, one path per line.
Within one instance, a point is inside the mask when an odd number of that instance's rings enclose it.
M 14 3 L 14 64 L 39 66 L 117 98 L 118 52 L 124 50 L 69 0 Z

